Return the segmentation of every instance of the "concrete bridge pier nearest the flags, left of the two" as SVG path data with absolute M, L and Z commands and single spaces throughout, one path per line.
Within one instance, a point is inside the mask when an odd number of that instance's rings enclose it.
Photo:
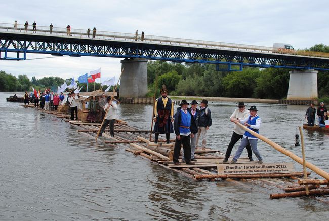
M 121 60 L 125 68 L 120 81 L 120 98 L 144 97 L 147 93 L 147 59 L 135 58 Z

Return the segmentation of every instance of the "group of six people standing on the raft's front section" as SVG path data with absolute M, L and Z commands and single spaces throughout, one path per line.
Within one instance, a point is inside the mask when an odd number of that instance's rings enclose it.
M 154 104 L 154 142 L 158 142 L 159 134 L 166 134 L 166 141 L 169 143 L 170 133 L 175 132 L 174 164 L 180 165 L 179 155 L 181 146 L 183 145 L 182 162 L 195 165 L 194 162 L 197 160 L 195 159 L 194 153 L 199 138 L 202 136 L 202 149 L 205 149 L 207 144 L 207 130 L 209 130 L 209 127 L 212 125 L 211 110 L 208 107 L 208 101 L 202 100 L 200 108 L 197 108 L 198 103 L 193 100 L 191 102 L 191 107 L 188 108 L 189 103 L 186 100 L 182 100 L 180 107 L 177 108 L 176 114 L 174 115 L 174 102 L 168 98 L 168 90 L 164 85 L 160 93 L 161 97 L 157 98 Z M 257 115 L 257 111 L 258 109 L 256 106 L 251 106 L 246 110 L 244 103 L 239 102 L 238 108 L 234 110 L 230 120 L 234 123 L 244 124 L 244 126 L 252 131 L 259 133 L 262 120 Z M 263 158 L 257 149 L 257 137 L 248 131 L 244 131 L 238 125 L 234 126 L 233 135 L 223 162 L 228 161 L 233 146 L 240 139 L 242 139 L 242 141 L 230 163 L 233 164 L 237 162 L 244 148 L 248 151 L 250 161 L 254 161 L 252 158 L 253 151 L 258 158 L 258 163 L 263 163 Z

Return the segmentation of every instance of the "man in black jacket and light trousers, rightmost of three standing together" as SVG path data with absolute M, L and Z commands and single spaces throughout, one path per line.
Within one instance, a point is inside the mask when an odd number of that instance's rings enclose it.
M 204 99 L 200 104 L 200 117 L 197 126 L 199 131 L 197 132 L 196 145 L 199 144 L 200 134 L 202 134 L 202 148 L 204 149 L 207 144 L 207 130 L 209 130 L 209 127 L 212 126 L 211 111 L 208 108 L 208 101 Z

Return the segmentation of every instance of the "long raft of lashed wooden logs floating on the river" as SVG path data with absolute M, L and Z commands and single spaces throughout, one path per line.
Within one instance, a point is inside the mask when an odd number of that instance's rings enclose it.
M 62 118 L 64 116 L 63 113 L 58 113 L 58 112 L 44 111 L 44 113 L 53 114 L 55 115 L 55 117 L 58 118 Z M 67 115 L 66 117 L 69 117 L 69 115 Z M 96 137 L 97 131 L 99 130 L 101 125 L 99 123 L 85 123 L 81 121 L 71 121 L 69 119 L 67 119 L 67 122 L 72 124 L 72 126 L 74 125 L 74 128 L 77 129 L 77 132 L 86 133 L 88 134 L 88 136 L 91 137 Z M 181 165 L 174 165 L 172 161 L 172 152 L 175 146 L 174 139 L 170 140 L 171 143 L 167 144 L 165 143 L 166 142 L 165 137 L 160 135 L 158 143 L 150 142 L 149 141 L 150 130 L 141 130 L 139 128 L 129 126 L 125 121 L 117 120 L 115 122 L 114 133 L 115 133 L 114 137 L 111 137 L 109 133 L 109 127 L 107 127 L 103 133 L 103 137 L 100 137 L 99 140 L 106 143 L 106 145 L 113 147 L 114 146 L 121 147 L 122 145 L 124 145 L 126 151 L 129 151 L 136 156 L 149 159 L 154 164 L 175 171 L 195 181 L 243 179 L 243 180 L 250 180 L 250 182 L 263 183 L 263 185 L 264 183 L 266 183 L 265 185 L 267 186 L 273 185 L 276 188 L 279 187 L 278 185 L 276 185 L 276 183 L 281 183 L 281 182 L 287 183 L 287 186 L 289 186 L 288 188 L 284 188 L 282 187 L 282 185 L 280 185 L 280 188 L 283 191 L 286 191 L 286 193 L 271 194 L 270 195 L 271 199 L 279 199 L 282 197 L 305 196 L 307 195 L 305 191 L 305 185 L 310 185 L 308 187 L 310 196 L 329 194 L 329 189 L 327 187 L 320 186 L 320 185 L 329 184 L 328 180 L 302 179 L 301 177 L 303 176 L 303 172 L 219 175 L 217 174 L 217 165 L 218 164 L 225 165 L 228 163 L 223 162 L 223 158 L 225 156 L 219 150 L 213 150 L 209 148 L 196 149 L 195 152 L 196 153 L 195 159 L 197 159 L 197 161 L 195 162 L 196 165 L 188 165 L 182 162 Z M 114 144 L 118 144 L 118 145 L 114 145 Z M 127 144 L 130 144 L 129 148 L 127 147 Z M 229 161 L 231 160 L 231 158 L 229 159 Z M 298 160 L 296 161 L 298 162 Z M 255 162 L 250 162 L 248 158 L 239 158 L 239 163 L 254 164 Z M 308 175 L 310 175 L 310 173 L 308 173 Z M 268 181 L 268 179 L 274 181 L 270 182 Z M 303 185 L 303 186 L 296 185 L 297 181 L 299 185 Z

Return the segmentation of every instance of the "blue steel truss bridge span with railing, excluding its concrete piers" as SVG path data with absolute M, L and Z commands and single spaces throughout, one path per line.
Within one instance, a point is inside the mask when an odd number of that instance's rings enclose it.
M 116 33 L 97 31 L 93 38 L 87 30 L 71 29 L 70 35 L 66 28 L 32 25 L 27 31 L 24 25 L 0 23 L 0 59 L 25 60 L 27 53 L 49 54 L 55 56 L 94 56 L 113 58 L 146 58 L 185 63 L 210 63 L 226 65 L 225 70 L 242 70 L 243 66 L 261 68 L 290 68 L 329 70 L 329 56 L 293 50 L 279 53 L 272 47 L 231 44 L 191 39 L 168 38 L 141 34 Z M 232 68 L 235 67 L 235 68 Z

